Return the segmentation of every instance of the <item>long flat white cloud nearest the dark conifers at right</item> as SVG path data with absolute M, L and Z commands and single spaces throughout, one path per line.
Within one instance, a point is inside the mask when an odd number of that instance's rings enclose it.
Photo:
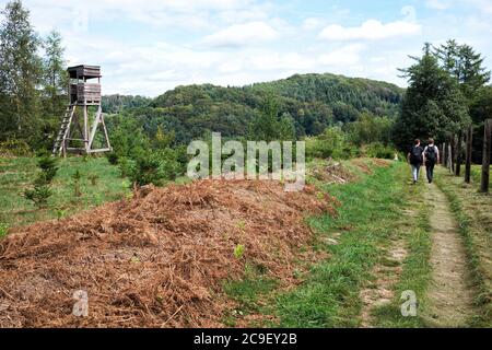
M 368 20 L 361 26 L 355 27 L 343 27 L 338 24 L 328 25 L 319 33 L 319 37 L 327 40 L 379 40 L 411 36 L 420 32 L 421 26 L 413 22 L 396 21 L 383 24 L 376 20 Z

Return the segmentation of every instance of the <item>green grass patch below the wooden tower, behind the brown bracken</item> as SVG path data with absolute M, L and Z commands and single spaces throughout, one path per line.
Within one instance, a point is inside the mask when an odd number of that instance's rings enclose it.
M 54 195 L 48 199 L 48 207 L 37 209 L 22 197 L 38 172 L 36 159 L 0 159 L 0 222 L 17 226 L 57 219 L 130 194 L 129 182 L 120 177 L 118 167 L 110 165 L 106 158 L 73 156 L 60 160 L 58 166 L 52 180 Z M 82 175 L 81 197 L 74 196 L 72 175 L 77 170 Z M 91 182 L 93 175 L 97 176 L 95 185 Z

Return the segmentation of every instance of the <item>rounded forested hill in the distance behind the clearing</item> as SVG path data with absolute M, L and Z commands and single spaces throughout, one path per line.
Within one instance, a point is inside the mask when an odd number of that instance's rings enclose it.
M 319 135 L 335 124 L 354 121 L 362 113 L 395 117 L 402 94 L 402 89 L 386 82 L 335 74 L 296 74 L 243 88 L 178 86 L 149 104 L 142 104 L 142 97 L 137 97 L 136 103 L 127 96 L 109 96 L 104 108 L 115 113 L 127 106 L 124 114 L 141 121 L 147 133 L 156 132 L 161 125 L 165 130 L 174 130 L 176 141 L 187 142 L 207 130 L 225 137 L 246 136 L 267 95 L 274 96 L 279 117 L 291 119 L 297 136 L 304 136 Z

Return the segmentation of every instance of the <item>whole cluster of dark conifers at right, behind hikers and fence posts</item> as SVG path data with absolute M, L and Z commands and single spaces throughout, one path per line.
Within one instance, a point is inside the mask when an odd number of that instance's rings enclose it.
M 413 139 L 432 137 L 448 142 L 473 125 L 473 160 L 481 161 L 483 121 L 492 117 L 491 73 L 483 57 L 471 46 L 454 39 L 434 47 L 425 44 L 422 57 L 401 69 L 409 88 L 394 127 L 395 144 L 408 149 Z

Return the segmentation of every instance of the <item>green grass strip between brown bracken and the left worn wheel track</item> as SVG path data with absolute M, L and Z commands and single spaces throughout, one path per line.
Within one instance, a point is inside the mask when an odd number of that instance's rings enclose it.
M 314 266 L 301 287 L 277 298 L 280 327 L 359 326 L 359 292 L 398 235 L 407 180 L 407 166 L 395 163 L 362 182 L 325 187 L 342 202 L 339 215 L 313 218 L 311 224 L 327 236 L 341 232 L 340 242 L 325 247 L 330 257 Z

